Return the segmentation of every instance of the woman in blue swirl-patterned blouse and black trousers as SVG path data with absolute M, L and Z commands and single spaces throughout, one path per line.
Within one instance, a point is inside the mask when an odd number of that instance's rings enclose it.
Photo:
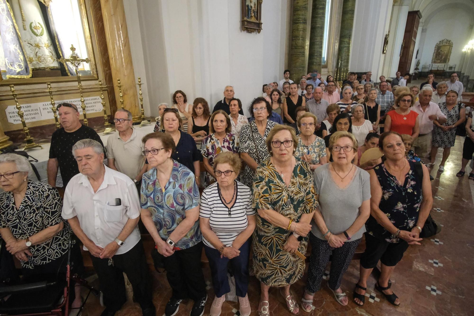
M 202 315 L 206 283 L 201 270 L 199 189 L 189 168 L 173 159 L 175 141 L 166 133 L 143 139 L 152 167 L 142 178 L 141 219 L 162 257 L 173 294 L 165 315 L 175 315 L 184 298 L 194 300 L 191 315 Z

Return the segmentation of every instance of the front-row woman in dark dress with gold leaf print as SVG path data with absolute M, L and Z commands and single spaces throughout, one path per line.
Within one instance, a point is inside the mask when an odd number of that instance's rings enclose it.
M 280 293 L 292 314 L 299 307 L 290 293 L 290 285 L 301 279 L 310 221 L 317 206 L 310 165 L 294 157 L 298 140 L 285 125 L 273 128 L 266 139 L 271 158 L 257 168 L 254 183 L 254 207 L 257 209 L 253 262 L 260 281 L 259 315 L 270 315 L 268 290 Z

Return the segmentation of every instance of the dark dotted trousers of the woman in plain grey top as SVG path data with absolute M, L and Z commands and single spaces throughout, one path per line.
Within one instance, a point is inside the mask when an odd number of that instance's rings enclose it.
M 337 290 L 341 286 L 342 276 L 349 268 L 357 245 L 362 238 L 353 242 L 344 242 L 339 248 L 332 248 L 326 240 L 319 239 L 310 233 L 311 256 L 310 268 L 308 269 L 308 280 L 306 288 L 309 292 L 315 293 L 321 288 L 323 273 L 331 256 L 331 269 L 329 271 L 329 288 Z

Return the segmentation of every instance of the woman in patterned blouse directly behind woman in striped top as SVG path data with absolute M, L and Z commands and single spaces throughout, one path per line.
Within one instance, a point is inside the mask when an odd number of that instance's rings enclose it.
M 237 112 L 238 113 L 238 112 Z M 212 113 L 209 124 L 209 136 L 202 141 L 201 154 L 206 169 L 205 184 L 216 181 L 214 174 L 214 159 L 225 151 L 237 152 L 234 135 L 230 132 L 232 126 L 226 112 L 218 110 Z

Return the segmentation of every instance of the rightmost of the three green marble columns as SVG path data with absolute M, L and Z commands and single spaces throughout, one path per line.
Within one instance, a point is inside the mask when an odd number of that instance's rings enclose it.
M 344 0 L 342 5 L 341 31 L 339 33 L 339 49 L 337 50 L 336 60 L 336 66 L 340 72 L 339 80 L 342 81 L 346 80 L 347 71 L 349 71 L 349 56 L 351 54 L 355 10 L 356 0 Z

